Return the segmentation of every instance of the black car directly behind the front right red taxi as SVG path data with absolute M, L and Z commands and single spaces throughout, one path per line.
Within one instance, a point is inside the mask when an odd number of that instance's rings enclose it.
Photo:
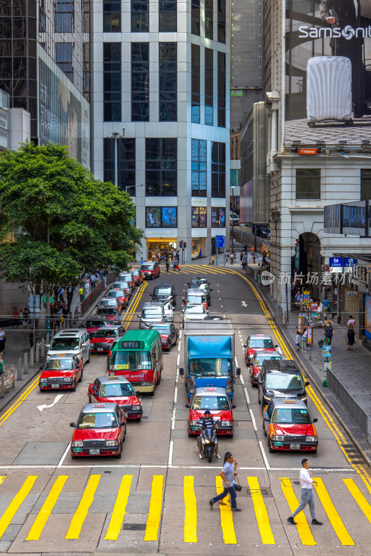
M 277 397 L 292 396 L 306 403 L 306 386 L 309 386 L 309 382 L 304 382 L 302 372 L 294 361 L 265 359 L 258 380 L 258 402 L 261 403 L 262 411 L 270 400 Z

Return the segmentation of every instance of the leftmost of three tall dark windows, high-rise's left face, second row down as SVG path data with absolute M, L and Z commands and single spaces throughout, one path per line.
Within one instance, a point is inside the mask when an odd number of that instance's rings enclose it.
M 104 122 L 121 122 L 121 42 L 103 44 Z

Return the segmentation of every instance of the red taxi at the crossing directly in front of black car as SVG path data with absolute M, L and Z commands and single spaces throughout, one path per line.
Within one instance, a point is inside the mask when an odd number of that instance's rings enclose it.
M 270 453 L 277 450 L 305 450 L 315 454 L 318 436 L 306 404 L 297 398 L 273 398 L 265 406 L 263 427 Z

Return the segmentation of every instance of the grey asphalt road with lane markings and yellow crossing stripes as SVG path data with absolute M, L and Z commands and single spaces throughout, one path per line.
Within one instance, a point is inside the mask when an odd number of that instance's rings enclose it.
M 164 273 L 135 290 L 123 321 L 138 327 L 137 314 L 150 300 L 155 284 L 172 281 L 181 297 L 192 275 L 206 275 L 212 284 L 211 313 L 233 322 L 236 358 L 242 378 L 233 403 L 235 434 L 220 439 L 220 453 L 230 450 L 239 461 L 242 492 L 239 514 L 229 505 L 211 511 L 208 500 L 218 488 L 220 460 L 199 460 L 195 439 L 187 434 L 188 399 L 183 379 L 183 335 L 165 354 L 164 371 L 153 397 L 142 396 L 144 418 L 128 423 L 122 459 L 72 461 L 69 441 L 79 411 L 88 401 L 88 384 L 106 373 L 106 357 L 92 357 L 76 392 L 40 393 L 38 379 L 0 416 L 0 552 L 88 556 L 119 553 L 164 555 L 326 555 L 368 553 L 371 527 L 371 480 L 368 469 L 355 464 L 356 449 L 341 423 L 308 388 L 308 407 L 318 418 L 320 444 L 311 455 L 317 518 L 310 525 L 308 509 L 297 526 L 286 518 L 300 496 L 300 461 L 306 454 L 269 454 L 262 428 L 258 395 L 249 382 L 243 358 L 248 334 L 275 336 L 283 343 L 267 308 L 233 267 L 188 265 Z M 258 294 L 257 294 L 258 295 Z M 273 329 L 272 329 L 273 325 Z M 309 525 L 308 525 L 309 523 Z M 226 546 L 228 545 L 228 546 Z M 316 546 L 313 548 L 313 546 Z

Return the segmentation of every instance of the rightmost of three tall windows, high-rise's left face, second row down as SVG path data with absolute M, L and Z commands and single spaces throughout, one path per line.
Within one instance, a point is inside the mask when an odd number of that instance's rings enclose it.
M 176 122 L 176 42 L 159 42 L 159 115 L 160 122 Z

